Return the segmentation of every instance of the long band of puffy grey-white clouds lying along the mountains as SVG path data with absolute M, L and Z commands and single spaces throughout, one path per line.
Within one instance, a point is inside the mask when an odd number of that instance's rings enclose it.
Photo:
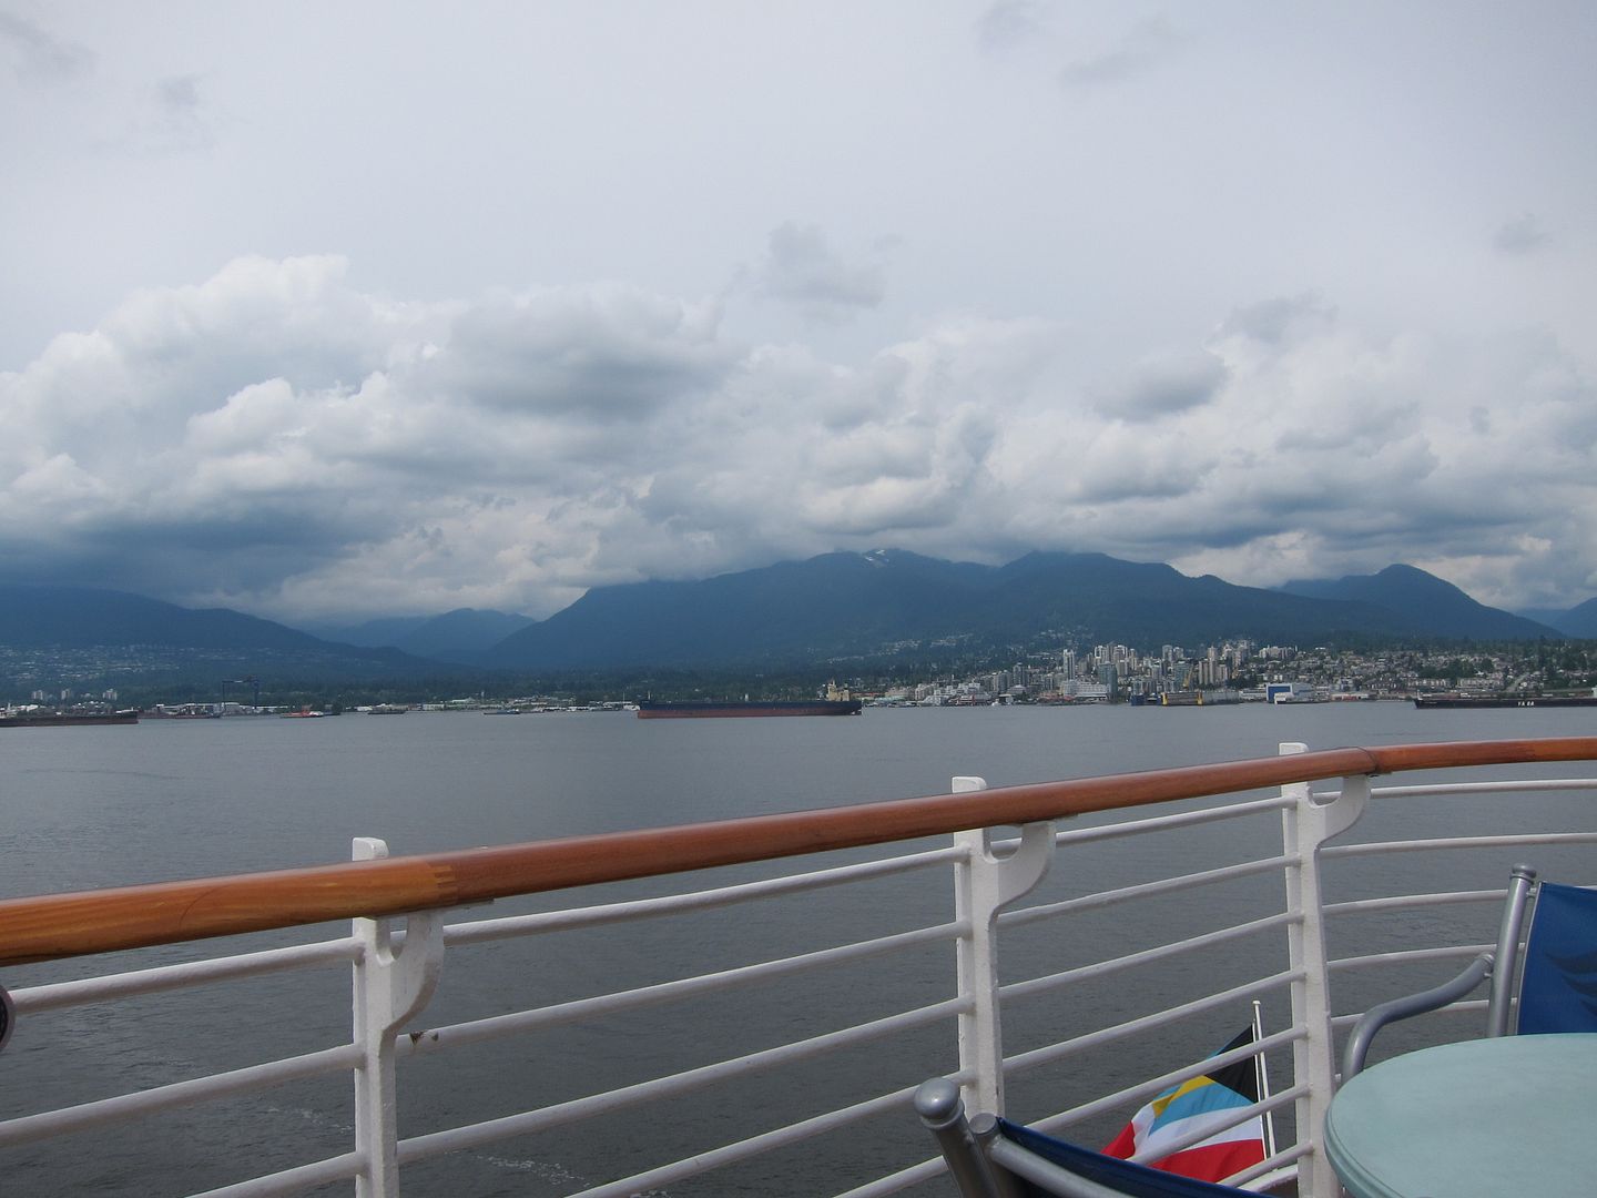
M 1532 561 L 1581 597 L 1597 387 L 1547 334 L 1298 297 L 1110 383 L 1070 356 L 1049 323 L 949 316 L 843 363 L 637 288 L 402 302 L 342 259 L 241 259 L 0 374 L 0 562 L 279 618 L 546 615 L 877 545 L 1254 583 L 1412 561 L 1482 597 Z

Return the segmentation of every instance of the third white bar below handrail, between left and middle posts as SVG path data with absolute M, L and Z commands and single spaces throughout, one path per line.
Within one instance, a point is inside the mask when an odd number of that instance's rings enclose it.
M 808 1040 L 795 1040 L 787 1045 L 778 1045 L 776 1048 L 767 1048 L 731 1061 L 717 1061 L 712 1065 L 701 1065 L 682 1073 L 671 1073 L 668 1077 L 639 1081 L 632 1086 L 607 1089 L 602 1094 L 589 1094 L 569 1102 L 557 1102 L 553 1107 L 527 1110 L 519 1115 L 505 1115 L 503 1118 L 484 1120 L 482 1123 L 449 1128 L 446 1131 L 434 1131 L 425 1136 L 412 1136 L 399 1140 L 399 1163 L 409 1164 L 410 1161 L 426 1160 L 428 1156 L 438 1156 L 446 1152 L 458 1152 L 462 1148 L 481 1148 L 484 1144 L 493 1144 L 495 1140 L 501 1140 L 509 1136 L 524 1136 L 533 1131 L 557 1128 L 564 1123 L 573 1123 L 591 1115 L 605 1115 L 624 1107 L 637 1105 L 639 1102 L 676 1097 L 677 1094 L 703 1089 L 704 1086 L 714 1085 L 723 1078 L 760 1073 L 791 1061 L 808 1061 L 810 1057 L 834 1053 L 838 1048 L 851 1048 L 853 1045 L 869 1043 L 870 1040 L 878 1040 L 885 1035 L 893 1035 L 894 1032 L 926 1027 L 928 1024 L 936 1024 L 942 1019 L 960 1014 L 969 1010 L 969 1000 L 950 998 L 947 1002 L 933 1003 L 931 1006 L 921 1006 L 913 1011 L 902 1011 L 899 1014 L 888 1016 L 885 1019 L 875 1019 L 869 1024 L 846 1027 L 840 1032 L 827 1032 Z

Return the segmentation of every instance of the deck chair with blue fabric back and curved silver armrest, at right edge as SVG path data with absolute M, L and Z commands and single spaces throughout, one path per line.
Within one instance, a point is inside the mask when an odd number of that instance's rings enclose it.
M 1525 912 L 1532 906 L 1530 936 L 1520 955 Z M 1450 982 L 1372 1006 L 1343 1048 L 1341 1080 L 1364 1069 L 1370 1041 L 1386 1024 L 1447 1006 L 1487 978 L 1492 979 L 1488 1037 L 1597 1032 L 1597 891 L 1538 883 L 1535 869 L 1514 866 L 1496 952 L 1480 954 Z

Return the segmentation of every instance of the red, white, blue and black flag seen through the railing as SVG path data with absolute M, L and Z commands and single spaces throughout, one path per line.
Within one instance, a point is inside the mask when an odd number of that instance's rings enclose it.
M 1254 1043 L 1252 1027 L 1244 1029 L 1220 1053 L 1250 1043 Z M 1158 1153 L 1161 1145 L 1225 1123 L 1226 1118 L 1234 1118 L 1238 1110 L 1257 1101 L 1258 1073 L 1254 1059 L 1244 1057 L 1166 1089 L 1131 1117 L 1131 1123 L 1104 1148 L 1104 1153 L 1123 1160 L 1150 1148 Z M 1190 1148 L 1148 1160 L 1147 1164 L 1183 1177 L 1219 1182 L 1250 1164 L 1258 1164 L 1263 1158 L 1265 1121 L 1254 1115 L 1233 1128 L 1215 1131 Z

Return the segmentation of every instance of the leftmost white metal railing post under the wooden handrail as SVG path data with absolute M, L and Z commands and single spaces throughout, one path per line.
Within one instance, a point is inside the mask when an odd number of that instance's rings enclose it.
M 356 837 L 356 861 L 388 856 L 375 837 Z M 391 920 L 353 920 L 361 955 L 355 960 L 355 1045 L 363 1061 L 355 1070 L 355 1150 L 363 1158 L 356 1198 L 398 1198 L 399 1120 L 394 1081 L 394 1033 L 426 1006 L 444 965 L 444 915 L 417 912 L 406 918 L 404 947 L 396 954 Z

